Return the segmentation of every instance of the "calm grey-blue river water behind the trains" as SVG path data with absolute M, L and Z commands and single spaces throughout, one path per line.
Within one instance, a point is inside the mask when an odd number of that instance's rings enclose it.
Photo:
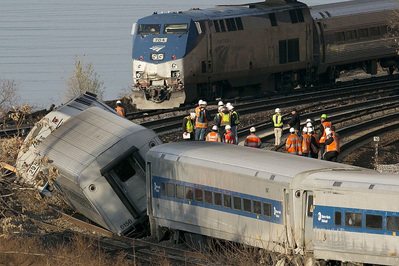
M 303 0 L 308 5 L 337 1 Z M 62 77 L 73 73 L 76 55 L 85 55 L 104 81 L 105 100 L 116 99 L 132 84 L 131 29 L 140 17 L 245 2 L 251 1 L 2 0 L 0 78 L 15 80 L 24 102 L 59 105 L 66 89 Z

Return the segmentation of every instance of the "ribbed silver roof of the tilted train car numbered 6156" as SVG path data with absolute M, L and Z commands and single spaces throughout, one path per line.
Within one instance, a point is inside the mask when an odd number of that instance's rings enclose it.
M 57 168 L 79 177 L 104 151 L 140 130 L 147 128 L 98 107 L 90 107 L 68 119 L 37 148 L 53 160 Z

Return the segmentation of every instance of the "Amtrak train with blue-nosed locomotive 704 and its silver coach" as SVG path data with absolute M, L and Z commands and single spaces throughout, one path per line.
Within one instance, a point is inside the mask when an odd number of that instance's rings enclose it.
M 166 109 L 334 82 L 345 69 L 398 68 L 396 0 L 308 7 L 295 0 L 158 13 L 133 24 L 133 103 Z

